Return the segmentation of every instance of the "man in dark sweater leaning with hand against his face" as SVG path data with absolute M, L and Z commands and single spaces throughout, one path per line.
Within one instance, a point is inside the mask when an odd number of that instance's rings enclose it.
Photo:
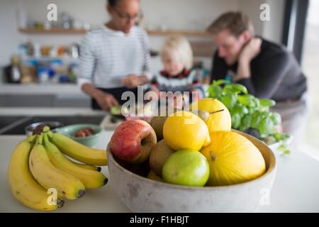
M 259 98 L 274 99 L 272 111 L 281 114 L 283 130 L 301 136 L 306 116 L 306 77 L 284 46 L 254 36 L 243 13 L 228 12 L 208 28 L 218 50 L 212 79 L 228 79 Z

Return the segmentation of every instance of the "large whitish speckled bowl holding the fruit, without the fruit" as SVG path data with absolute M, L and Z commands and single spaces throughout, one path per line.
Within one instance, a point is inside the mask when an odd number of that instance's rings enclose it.
M 270 193 L 276 175 L 276 159 L 262 141 L 241 133 L 257 146 L 266 172 L 250 182 L 221 187 L 186 187 L 157 182 L 136 175 L 108 153 L 110 180 L 123 203 L 133 212 L 254 212 Z M 267 199 L 267 198 L 266 198 Z

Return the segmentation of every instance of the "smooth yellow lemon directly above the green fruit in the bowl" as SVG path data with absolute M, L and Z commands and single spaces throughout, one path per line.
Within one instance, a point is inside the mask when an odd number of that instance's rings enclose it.
M 188 111 L 171 114 L 164 123 L 163 135 L 174 150 L 200 150 L 211 143 L 205 122 Z

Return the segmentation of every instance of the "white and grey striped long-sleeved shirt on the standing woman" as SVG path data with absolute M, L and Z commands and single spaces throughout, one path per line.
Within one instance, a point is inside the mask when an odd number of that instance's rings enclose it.
M 151 79 L 147 34 L 134 26 L 130 33 L 106 26 L 87 33 L 82 41 L 78 84 L 89 82 L 99 88 L 123 87 L 128 74 L 145 74 Z

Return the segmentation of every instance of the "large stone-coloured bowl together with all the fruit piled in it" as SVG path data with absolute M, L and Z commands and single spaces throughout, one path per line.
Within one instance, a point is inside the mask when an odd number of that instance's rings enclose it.
M 198 109 L 210 106 L 207 113 Z M 110 179 L 134 212 L 252 212 L 266 201 L 276 158 L 266 143 L 231 129 L 216 99 L 151 123 L 123 122 L 107 148 Z

